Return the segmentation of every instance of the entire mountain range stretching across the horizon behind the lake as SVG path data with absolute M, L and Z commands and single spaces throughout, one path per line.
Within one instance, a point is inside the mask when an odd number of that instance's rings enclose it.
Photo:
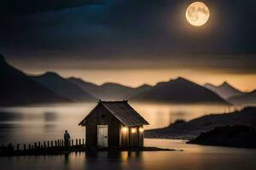
M 230 103 L 241 104 L 245 101 L 253 101 L 256 94 L 255 91 L 249 94 L 242 93 L 227 82 L 219 87 L 207 84 L 205 88 L 183 77 L 169 82 L 159 82 L 155 86 L 144 84 L 131 88 L 113 82 L 96 85 L 76 77 L 64 78 L 55 72 L 27 76 L 9 65 L 2 55 L 0 66 L 2 84 L 0 105 L 96 101 L 96 99 L 230 105 Z M 232 97 L 228 98 L 230 96 Z

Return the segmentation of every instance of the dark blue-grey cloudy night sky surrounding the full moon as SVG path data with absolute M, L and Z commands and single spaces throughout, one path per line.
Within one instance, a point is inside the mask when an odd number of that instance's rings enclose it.
M 176 65 L 216 65 L 232 68 L 231 71 L 253 71 L 254 0 L 204 1 L 211 10 L 211 18 L 200 28 L 189 26 L 185 20 L 184 11 L 193 2 L 190 0 L 102 0 L 76 3 L 79 5 L 68 2 L 55 11 L 39 5 L 41 8 L 32 12 L 35 14 L 20 16 L 19 11 L 8 17 L 2 14 L 3 54 L 16 59 L 49 57 L 79 62 L 81 59 L 154 61 L 157 57 Z M 180 57 L 183 54 L 200 57 Z

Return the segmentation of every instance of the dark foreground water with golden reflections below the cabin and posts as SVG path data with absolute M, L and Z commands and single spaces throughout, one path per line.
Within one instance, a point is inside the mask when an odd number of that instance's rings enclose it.
M 17 156 L 0 158 L 0 169 L 173 169 L 255 170 L 256 150 L 184 144 L 181 140 L 146 139 L 146 145 L 184 151 L 95 152 L 66 156 Z

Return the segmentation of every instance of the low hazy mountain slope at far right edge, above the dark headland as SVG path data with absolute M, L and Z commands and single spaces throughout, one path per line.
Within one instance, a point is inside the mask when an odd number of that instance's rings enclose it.
M 247 94 L 241 94 L 228 99 L 235 105 L 256 105 L 256 90 Z

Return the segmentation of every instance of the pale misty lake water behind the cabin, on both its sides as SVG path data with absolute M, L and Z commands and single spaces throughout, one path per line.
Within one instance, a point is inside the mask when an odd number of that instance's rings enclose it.
M 0 108 L 0 143 L 33 143 L 62 139 L 65 129 L 71 137 L 84 138 L 79 122 L 96 104 L 44 105 Z M 166 127 L 177 119 L 191 120 L 232 109 L 219 105 L 131 104 L 150 123 L 145 128 Z

